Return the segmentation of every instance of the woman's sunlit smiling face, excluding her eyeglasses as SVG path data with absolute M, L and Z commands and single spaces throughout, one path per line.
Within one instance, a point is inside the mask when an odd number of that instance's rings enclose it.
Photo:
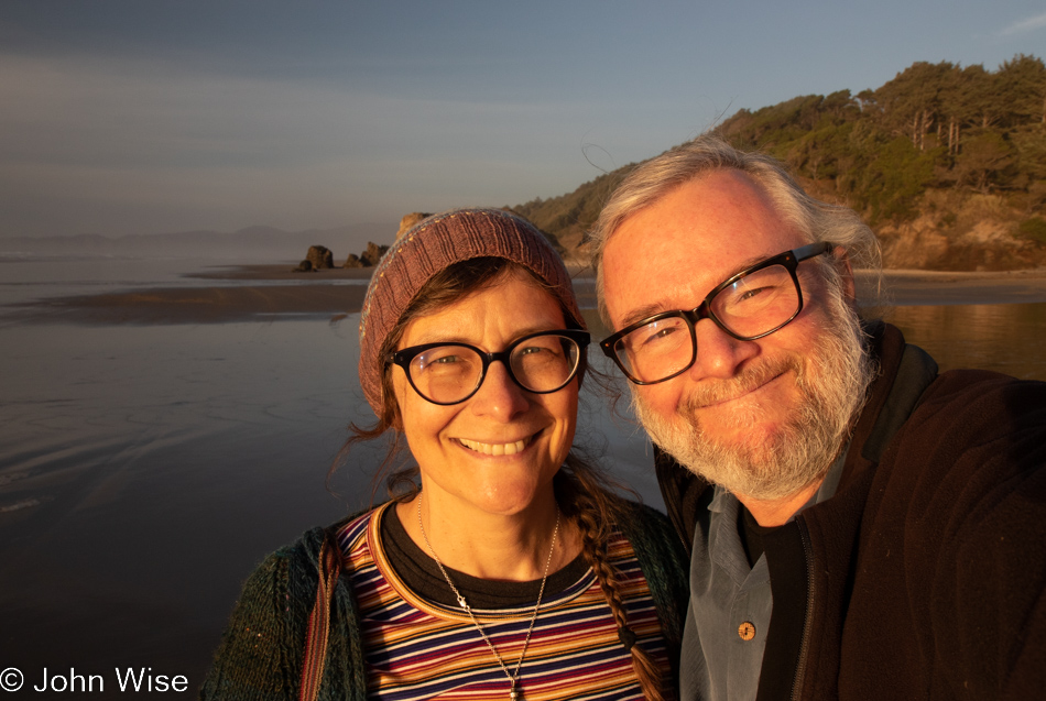
M 563 329 L 556 299 L 519 271 L 438 311 L 411 321 L 399 349 L 460 341 L 498 352 L 535 331 Z M 393 388 L 403 432 L 429 503 L 516 514 L 552 496 L 552 479 L 574 442 L 578 381 L 534 394 L 494 362 L 479 391 L 451 406 L 422 398 L 401 368 Z

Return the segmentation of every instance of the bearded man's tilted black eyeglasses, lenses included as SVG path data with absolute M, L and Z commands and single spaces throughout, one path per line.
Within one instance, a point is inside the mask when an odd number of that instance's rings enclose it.
M 786 326 L 803 309 L 795 271 L 802 261 L 828 253 L 833 243 L 810 243 L 756 263 L 717 285 L 689 311 L 662 311 L 599 343 L 635 384 L 656 384 L 686 372 L 697 360 L 694 326 L 711 319 L 741 341 L 754 341 Z

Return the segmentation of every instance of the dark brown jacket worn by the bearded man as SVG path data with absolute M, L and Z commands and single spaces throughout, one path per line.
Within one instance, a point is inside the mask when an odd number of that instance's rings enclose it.
M 767 544 L 759 699 L 1044 698 L 1046 383 L 938 375 L 889 325 L 872 347 L 836 495 Z M 712 490 L 657 474 L 689 547 Z

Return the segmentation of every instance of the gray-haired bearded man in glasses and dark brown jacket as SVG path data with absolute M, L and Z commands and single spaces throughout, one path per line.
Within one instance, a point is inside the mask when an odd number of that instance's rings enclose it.
M 871 230 L 713 136 L 633 171 L 593 245 L 693 548 L 683 699 L 1046 693 L 1046 384 L 861 321 Z

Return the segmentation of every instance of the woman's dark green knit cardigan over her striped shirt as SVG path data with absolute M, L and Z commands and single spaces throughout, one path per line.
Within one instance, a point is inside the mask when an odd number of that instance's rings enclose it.
M 689 563 L 667 518 L 633 504 L 619 528 L 632 544 L 646 576 L 677 676 L 686 615 Z M 350 517 L 351 518 L 351 517 Z M 308 614 L 319 581 L 317 558 L 328 529 L 314 528 L 292 546 L 270 555 L 243 585 L 200 699 L 298 698 Z M 364 701 L 367 673 L 359 611 L 342 572 L 330 606 L 330 635 L 319 700 Z

